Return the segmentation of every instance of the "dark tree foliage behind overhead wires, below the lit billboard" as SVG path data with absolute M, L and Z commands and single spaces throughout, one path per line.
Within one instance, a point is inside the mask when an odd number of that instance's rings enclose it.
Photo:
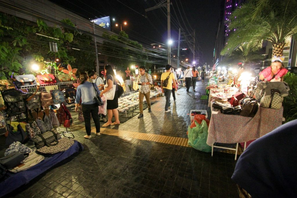
M 108 56 L 108 61 L 117 68 L 127 68 L 131 64 L 146 65 L 148 56 L 142 45 L 129 39 L 128 34 L 121 31 L 119 35 L 104 33 L 102 54 Z

